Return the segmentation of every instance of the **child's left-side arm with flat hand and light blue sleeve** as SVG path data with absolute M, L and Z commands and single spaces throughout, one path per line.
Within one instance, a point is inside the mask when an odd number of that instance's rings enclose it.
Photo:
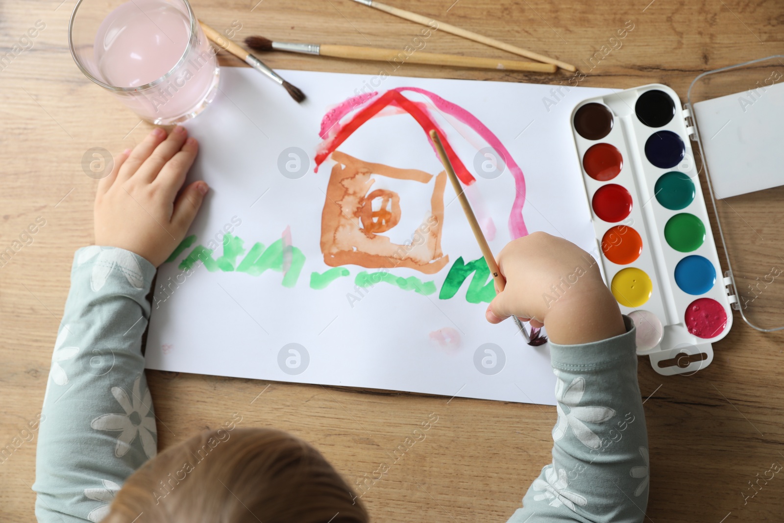
M 198 144 L 156 129 L 98 184 L 96 245 L 79 249 L 55 342 L 38 435 L 38 521 L 100 521 L 130 474 L 155 455 L 144 379 L 155 267 L 183 239 L 207 185 L 177 197 Z

